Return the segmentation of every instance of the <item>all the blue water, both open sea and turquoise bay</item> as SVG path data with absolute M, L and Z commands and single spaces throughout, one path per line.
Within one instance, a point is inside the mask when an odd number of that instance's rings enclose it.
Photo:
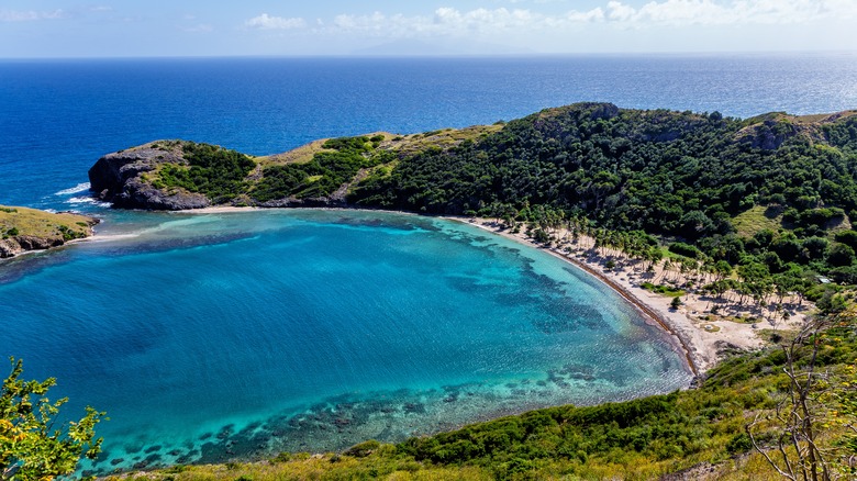
M 855 79 L 855 54 L 0 60 L 0 204 L 104 220 L 96 240 L 0 262 L 0 355 L 56 377 L 66 412 L 109 412 L 100 472 L 682 388 L 658 328 L 539 250 L 392 213 L 116 212 L 87 169 L 158 138 L 266 155 L 589 100 L 835 112 L 857 108 Z

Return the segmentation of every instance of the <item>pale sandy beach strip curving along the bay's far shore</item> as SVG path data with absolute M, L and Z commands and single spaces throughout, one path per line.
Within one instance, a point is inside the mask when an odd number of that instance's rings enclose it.
M 181 214 L 218 214 L 218 213 L 246 213 L 267 211 L 277 208 L 255 208 L 255 206 L 231 206 L 220 205 L 203 209 L 191 209 L 182 211 L 172 211 Z M 289 208 L 286 208 L 289 209 Z M 293 209 L 293 208 L 292 208 Z M 343 210 L 343 211 L 365 211 L 365 212 L 390 212 L 408 215 L 421 215 L 412 212 L 386 211 L 374 209 L 352 209 L 352 208 L 307 208 L 312 210 Z M 700 313 L 706 311 L 702 304 L 711 304 L 710 299 L 703 299 L 699 295 L 688 294 L 681 307 L 678 310 L 670 307 L 672 298 L 656 294 L 641 287 L 642 275 L 626 271 L 624 268 L 606 269 L 606 258 L 587 255 L 587 249 L 578 247 L 575 251 L 561 251 L 558 247 L 545 247 L 530 239 L 525 234 L 513 234 L 496 221 L 470 216 L 439 215 L 437 219 L 460 222 L 468 225 L 482 228 L 492 234 L 503 236 L 508 239 L 525 245 L 527 247 L 544 250 L 581 269 L 586 275 L 591 276 L 598 281 L 604 283 L 616 294 L 628 302 L 646 322 L 659 326 L 669 337 L 677 353 L 680 353 L 687 361 L 691 373 L 699 378 L 714 367 L 722 358 L 724 348 L 738 348 L 743 350 L 753 350 L 763 346 L 763 340 L 757 336 L 756 324 L 745 324 L 732 322 L 726 318 L 705 318 Z M 658 275 L 663 275 L 660 268 L 656 269 Z M 805 310 L 804 310 L 805 311 Z M 692 317 L 697 315 L 697 320 Z M 803 320 L 803 313 L 795 313 L 790 323 L 797 324 Z M 710 317 L 710 316 L 704 316 Z

